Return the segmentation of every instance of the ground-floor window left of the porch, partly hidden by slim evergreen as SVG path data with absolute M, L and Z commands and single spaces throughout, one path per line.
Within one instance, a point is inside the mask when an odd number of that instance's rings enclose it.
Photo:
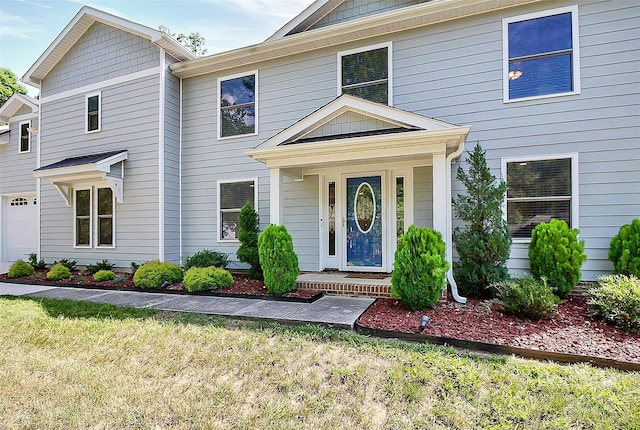
M 238 215 L 245 204 L 256 208 L 257 181 L 218 182 L 218 240 L 238 239 Z

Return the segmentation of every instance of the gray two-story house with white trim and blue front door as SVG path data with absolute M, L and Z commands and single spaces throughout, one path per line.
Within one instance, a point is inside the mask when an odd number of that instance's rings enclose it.
M 233 258 L 249 202 L 263 228 L 287 226 L 305 271 L 390 272 L 411 224 L 451 259 L 455 170 L 479 142 L 509 187 L 510 269 L 561 218 L 594 279 L 640 216 L 639 16 L 625 1 L 319 0 L 262 44 L 194 59 L 85 7 L 23 78 L 42 92 L 39 253 Z

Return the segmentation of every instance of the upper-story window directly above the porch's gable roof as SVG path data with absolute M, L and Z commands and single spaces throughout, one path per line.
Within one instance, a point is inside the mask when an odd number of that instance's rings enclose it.
M 338 52 L 338 95 L 391 105 L 391 43 Z

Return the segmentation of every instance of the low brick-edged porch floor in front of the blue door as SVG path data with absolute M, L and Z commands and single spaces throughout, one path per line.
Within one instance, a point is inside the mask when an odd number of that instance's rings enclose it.
M 357 276 L 357 277 L 355 277 Z M 367 277 L 371 276 L 371 277 Z M 306 272 L 298 276 L 300 289 L 318 290 L 326 294 L 354 297 L 391 297 L 391 274 L 351 272 Z

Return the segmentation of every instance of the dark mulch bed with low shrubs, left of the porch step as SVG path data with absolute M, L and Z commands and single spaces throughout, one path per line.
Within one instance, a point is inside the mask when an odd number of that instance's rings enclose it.
M 96 282 L 93 280 L 91 273 L 88 271 L 73 271 L 71 272 L 72 279 L 65 279 L 59 282 L 52 282 L 47 279 L 47 271 L 46 270 L 37 270 L 31 276 L 23 276 L 20 278 L 9 279 L 6 274 L 0 275 L 0 281 L 3 282 L 18 282 L 18 283 L 30 283 L 30 284 L 42 284 L 42 285 L 57 285 L 61 287 L 82 287 L 82 288 L 104 288 L 104 289 L 115 289 L 115 290 L 131 290 L 131 291 L 151 291 L 149 289 L 143 290 L 140 288 L 136 288 L 133 285 L 133 275 L 131 273 L 116 273 L 116 278 L 120 277 L 124 280 L 122 282 L 115 281 L 103 281 Z M 264 285 L 263 281 L 256 281 L 249 279 L 244 274 L 233 274 L 233 285 L 228 288 L 215 290 L 211 292 L 202 292 L 202 295 L 227 295 L 230 297 L 235 296 L 247 296 L 247 297 L 256 297 L 256 298 L 273 298 L 269 292 L 267 291 L 267 287 Z M 188 293 L 185 290 L 184 284 L 174 284 L 169 285 L 165 288 L 156 288 L 155 292 L 171 292 L 171 293 L 184 293 L 184 294 L 196 294 L 196 293 Z M 313 300 L 318 297 L 321 293 L 315 290 L 294 290 L 280 296 L 282 299 L 291 299 L 291 300 Z

